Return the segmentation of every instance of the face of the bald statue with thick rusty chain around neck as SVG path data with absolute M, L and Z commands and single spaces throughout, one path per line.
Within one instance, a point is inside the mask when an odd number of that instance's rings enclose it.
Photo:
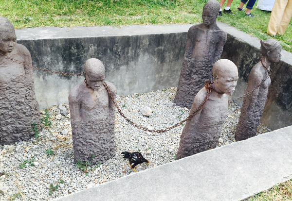
M 237 70 L 229 70 L 221 72 L 220 74 L 222 75 L 218 75 L 215 81 L 217 88 L 224 94 L 232 95 L 237 85 Z

